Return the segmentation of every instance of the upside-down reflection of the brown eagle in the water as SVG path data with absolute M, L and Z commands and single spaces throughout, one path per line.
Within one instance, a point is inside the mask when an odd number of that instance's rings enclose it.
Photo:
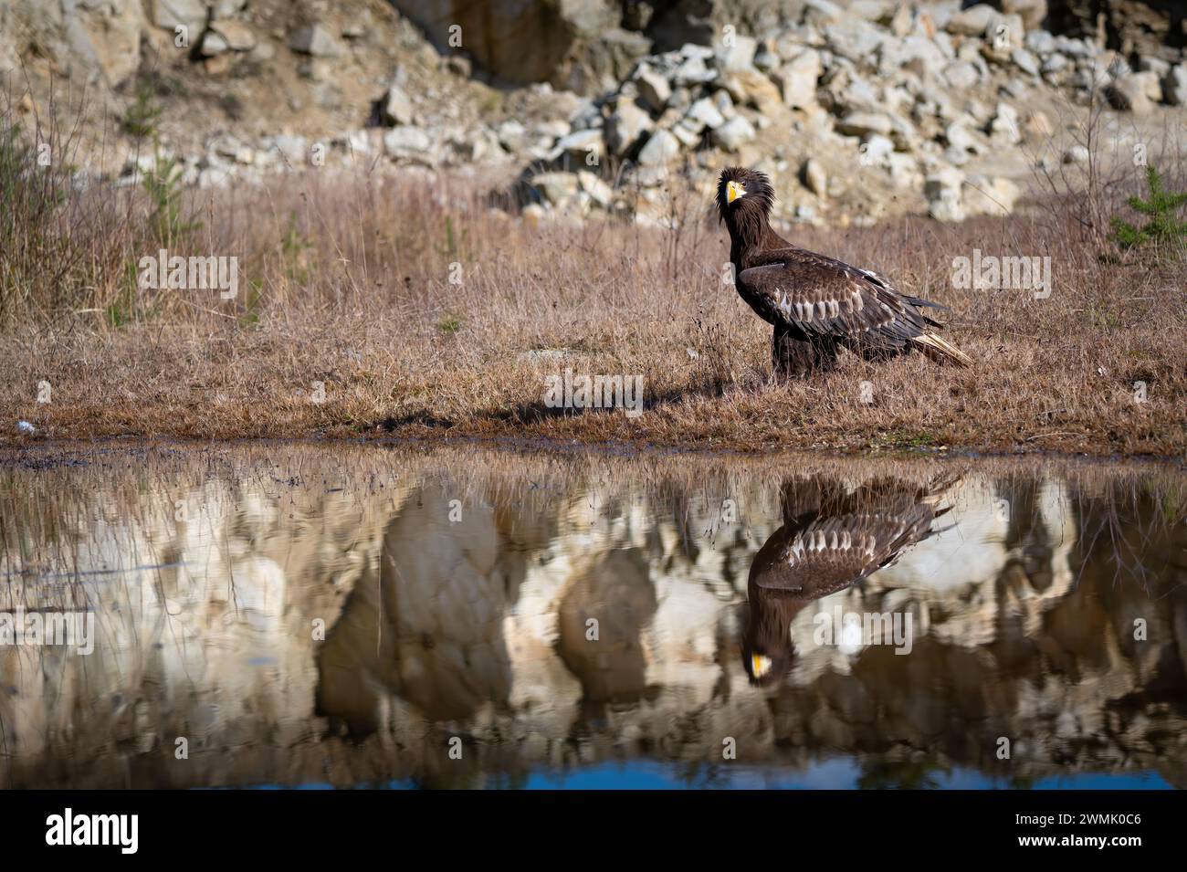
M 792 669 L 792 620 L 820 597 L 850 587 L 939 530 L 939 504 L 956 479 L 919 486 L 878 478 L 850 491 L 812 477 L 783 482 L 783 526 L 750 564 L 742 663 L 750 682 L 770 686 Z

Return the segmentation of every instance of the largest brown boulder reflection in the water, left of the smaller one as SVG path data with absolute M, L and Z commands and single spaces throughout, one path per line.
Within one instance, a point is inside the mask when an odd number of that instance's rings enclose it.
M 450 520 L 439 488 L 413 494 L 383 534 L 379 577 L 356 585 L 319 657 L 318 707 L 355 733 L 377 726 L 387 693 L 430 720 L 502 706 L 510 667 L 502 615 L 514 583 L 489 505 Z

